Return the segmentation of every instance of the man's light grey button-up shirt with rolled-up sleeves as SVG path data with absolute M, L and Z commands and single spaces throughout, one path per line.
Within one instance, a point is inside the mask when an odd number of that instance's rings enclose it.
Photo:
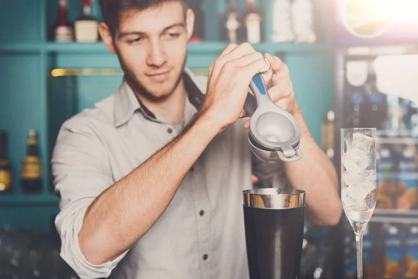
M 199 109 L 207 79 L 187 68 L 183 77 L 187 125 Z M 88 205 L 179 133 L 181 127 L 141 105 L 126 82 L 93 109 L 63 123 L 52 156 L 61 197 L 56 228 L 61 257 L 81 278 L 248 278 L 242 190 L 252 188 L 251 172 L 265 186 L 287 184 L 279 164 L 253 158 L 242 120 L 210 142 L 157 223 L 129 250 L 99 266 L 80 251 L 77 234 Z

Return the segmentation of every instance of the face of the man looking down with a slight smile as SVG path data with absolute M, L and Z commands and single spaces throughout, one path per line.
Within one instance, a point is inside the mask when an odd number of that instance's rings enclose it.
M 168 1 L 123 13 L 114 38 L 110 43 L 103 40 L 109 50 L 118 54 L 132 89 L 158 101 L 173 93 L 181 80 L 193 24 L 192 10 L 185 18 L 182 4 Z M 100 27 L 102 37 L 106 37 L 103 28 L 107 27 Z

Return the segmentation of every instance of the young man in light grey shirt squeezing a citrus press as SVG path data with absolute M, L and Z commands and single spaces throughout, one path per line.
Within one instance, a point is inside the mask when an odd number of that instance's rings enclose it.
M 184 0 L 100 5 L 102 40 L 125 77 L 63 123 L 52 158 L 61 256 L 81 278 L 248 278 L 242 190 L 251 169 L 266 186 L 306 190 L 312 222 L 338 222 L 336 173 L 279 58 L 231 44 L 208 79 L 196 77 L 185 68 L 194 13 Z M 240 117 L 251 78 L 265 72 L 272 99 L 302 126 L 300 161 L 265 164 L 249 149 Z

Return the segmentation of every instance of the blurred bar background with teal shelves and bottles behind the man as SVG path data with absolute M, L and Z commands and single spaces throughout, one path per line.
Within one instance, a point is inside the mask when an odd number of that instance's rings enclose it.
M 378 204 L 365 278 L 418 277 L 418 1 L 189 0 L 187 67 L 227 43 L 279 56 L 315 140 L 340 170 L 340 128 L 378 129 Z M 111 95 L 123 73 L 98 37 L 97 0 L 0 8 L 0 278 L 77 278 L 59 257 L 49 160 L 66 119 Z M 93 27 L 93 28 L 88 28 Z M 256 185 L 262 187 L 262 185 Z M 305 226 L 301 279 L 355 278 L 345 214 Z

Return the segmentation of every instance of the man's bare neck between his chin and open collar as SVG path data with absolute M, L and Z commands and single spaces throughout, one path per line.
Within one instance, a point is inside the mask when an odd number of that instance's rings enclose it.
M 135 92 L 141 103 L 143 103 L 150 112 L 162 116 L 173 125 L 178 125 L 183 121 L 185 111 L 185 100 L 187 92 L 183 79 L 180 80 L 176 89 L 164 100 L 157 102 L 146 98 L 139 92 Z

